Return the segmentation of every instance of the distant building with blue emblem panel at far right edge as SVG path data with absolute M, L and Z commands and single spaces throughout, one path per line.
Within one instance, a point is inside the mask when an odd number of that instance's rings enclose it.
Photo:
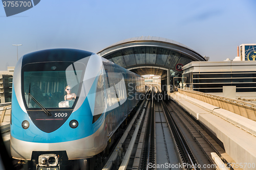
M 239 55 L 241 61 L 255 61 L 256 44 L 241 44 Z

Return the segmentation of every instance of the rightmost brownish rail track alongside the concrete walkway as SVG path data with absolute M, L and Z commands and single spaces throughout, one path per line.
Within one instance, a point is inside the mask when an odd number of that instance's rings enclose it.
M 197 143 L 193 144 L 193 142 L 188 142 L 189 147 L 192 149 L 194 153 L 196 153 L 196 159 L 200 160 L 199 162 L 201 167 L 207 164 L 215 164 L 214 160 L 212 160 L 211 158 L 212 152 L 216 153 L 220 158 L 222 158 L 222 161 L 226 165 L 228 164 L 227 160 L 225 160 L 221 156 L 221 153 L 225 153 L 225 151 L 214 139 L 210 137 L 208 133 L 205 132 L 205 130 L 200 125 L 196 123 L 194 118 L 187 114 L 173 101 L 167 101 L 166 106 L 169 110 L 169 113 L 176 119 L 176 122 L 179 123 L 179 127 L 183 131 L 183 133 L 187 134 L 186 140 L 193 140 Z M 201 157 L 206 157 L 207 159 L 202 159 Z M 204 169 L 212 169 L 212 167 Z M 230 167 L 230 169 L 233 168 Z

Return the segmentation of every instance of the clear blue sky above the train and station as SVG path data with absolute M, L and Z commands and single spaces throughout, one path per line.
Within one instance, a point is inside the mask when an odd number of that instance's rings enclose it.
M 210 61 L 237 56 L 237 46 L 256 43 L 256 1 L 41 0 L 6 17 L 0 6 L 0 70 L 18 56 L 68 47 L 97 53 L 126 38 L 157 36 L 178 41 Z

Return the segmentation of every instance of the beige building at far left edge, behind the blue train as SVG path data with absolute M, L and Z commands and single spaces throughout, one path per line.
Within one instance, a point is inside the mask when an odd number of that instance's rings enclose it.
M 7 71 L 0 71 L 0 103 L 11 102 L 13 72 L 14 67 L 8 67 Z

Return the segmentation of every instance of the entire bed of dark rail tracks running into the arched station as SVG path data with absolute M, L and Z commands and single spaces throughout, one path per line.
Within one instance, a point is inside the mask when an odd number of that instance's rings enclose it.
M 219 144 L 176 103 L 163 101 L 155 87 L 145 96 L 96 169 L 216 169 L 210 153 L 221 157 Z

